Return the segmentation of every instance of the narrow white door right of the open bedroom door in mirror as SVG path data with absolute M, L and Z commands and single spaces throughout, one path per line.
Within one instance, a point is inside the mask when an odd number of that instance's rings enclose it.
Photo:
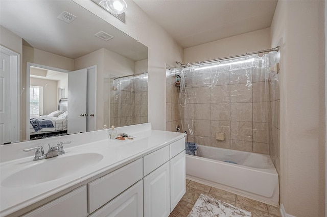
M 97 66 L 87 68 L 86 131 L 97 130 Z

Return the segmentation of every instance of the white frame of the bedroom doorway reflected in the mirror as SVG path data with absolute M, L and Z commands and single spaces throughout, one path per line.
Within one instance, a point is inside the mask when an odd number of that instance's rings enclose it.
M 44 68 L 53 71 L 59 71 L 60 73 L 69 73 L 69 70 L 62 68 L 55 68 L 47 65 L 40 65 L 36 63 L 27 62 L 26 63 L 26 140 L 30 140 L 30 76 L 31 76 L 31 66 Z

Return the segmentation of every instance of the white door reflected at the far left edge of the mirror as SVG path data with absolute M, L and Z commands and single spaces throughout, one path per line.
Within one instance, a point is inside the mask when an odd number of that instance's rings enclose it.
M 0 58 L 0 144 L 10 142 L 10 55 Z

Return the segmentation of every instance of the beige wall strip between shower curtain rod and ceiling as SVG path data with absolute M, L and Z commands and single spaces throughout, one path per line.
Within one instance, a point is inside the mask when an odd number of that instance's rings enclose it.
M 183 63 L 270 49 L 270 28 L 232 36 L 184 49 Z

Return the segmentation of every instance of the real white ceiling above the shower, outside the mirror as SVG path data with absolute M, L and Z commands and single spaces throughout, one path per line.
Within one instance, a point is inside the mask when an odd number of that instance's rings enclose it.
M 270 27 L 277 0 L 134 0 L 183 48 Z

